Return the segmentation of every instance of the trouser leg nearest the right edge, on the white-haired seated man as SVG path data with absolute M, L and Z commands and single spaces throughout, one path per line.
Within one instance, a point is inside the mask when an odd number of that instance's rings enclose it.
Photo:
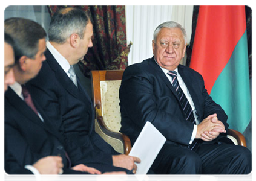
M 200 145 L 195 151 L 202 160 L 202 174 L 218 177 L 218 181 L 251 181 L 251 152 L 231 144 Z

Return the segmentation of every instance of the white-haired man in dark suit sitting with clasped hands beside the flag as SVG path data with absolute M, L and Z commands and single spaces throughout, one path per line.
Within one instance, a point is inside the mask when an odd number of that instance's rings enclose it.
M 208 95 L 202 76 L 179 65 L 186 31 L 165 22 L 154 31 L 154 56 L 128 66 L 119 90 L 121 132 L 131 142 L 146 121 L 167 139 L 151 169 L 161 180 L 252 180 L 250 151 L 226 144 L 227 116 Z

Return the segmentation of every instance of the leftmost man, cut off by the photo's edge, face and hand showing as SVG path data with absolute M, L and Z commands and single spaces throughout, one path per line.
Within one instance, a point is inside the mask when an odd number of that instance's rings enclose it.
M 4 33 L 3 35 L 3 92 L 6 92 L 8 86 L 15 83 L 15 77 L 13 74 L 13 66 L 15 65 L 15 54 L 13 51 L 13 39 Z M 53 181 L 59 179 L 59 172 L 62 171 L 62 158 L 60 156 L 48 156 L 39 159 L 33 165 L 25 165 L 25 167 L 19 167 L 14 158 L 11 158 L 13 162 L 17 164 L 15 171 L 8 171 L 5 164 L 5 160 L 10 159 L 9 153 L 4 150 L 4 180 L 5 181 L 18 181 L 18 180 L 41 180 L 41 181 Z

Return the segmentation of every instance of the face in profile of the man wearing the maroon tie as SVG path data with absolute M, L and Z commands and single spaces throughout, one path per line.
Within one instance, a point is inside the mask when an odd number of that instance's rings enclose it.
M 34 59 L 28 58 L 26 60 L 26 63 L 28 66 L 26 74 L 28 75 L 27 77 L 28 80 L 38 75 L 42 67 L 42 62 L 46 59 L 44 56 L 44 52 L 46 50 L 45 39 L 40 39 L 38 45 L 39 45 L 38 52 L 36 53 L 36 56 L 34 57 Z

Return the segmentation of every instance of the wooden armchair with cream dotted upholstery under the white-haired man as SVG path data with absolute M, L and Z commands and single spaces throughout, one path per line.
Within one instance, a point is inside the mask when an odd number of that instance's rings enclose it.
M 116 151 L 129 154 L 131 142 L 128 136 L 120 133 L 119 87 L 123 70 L 91 71 L 93 101 L 96 111 L 95 130 Z M 246 147 L 245 137 L 238 131 L 229 129 L 228 138 L 234 144 Z M 217 177 L 201 176 L 200 181 L 214 181 Z

